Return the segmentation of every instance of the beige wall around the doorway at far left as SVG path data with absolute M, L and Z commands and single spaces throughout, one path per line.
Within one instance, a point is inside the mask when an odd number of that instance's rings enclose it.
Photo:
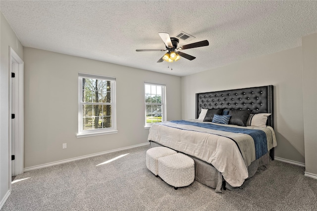
M 9 194 L 9 46 L 23 59 L 23 46 L 0 12 L 0 208 Z

